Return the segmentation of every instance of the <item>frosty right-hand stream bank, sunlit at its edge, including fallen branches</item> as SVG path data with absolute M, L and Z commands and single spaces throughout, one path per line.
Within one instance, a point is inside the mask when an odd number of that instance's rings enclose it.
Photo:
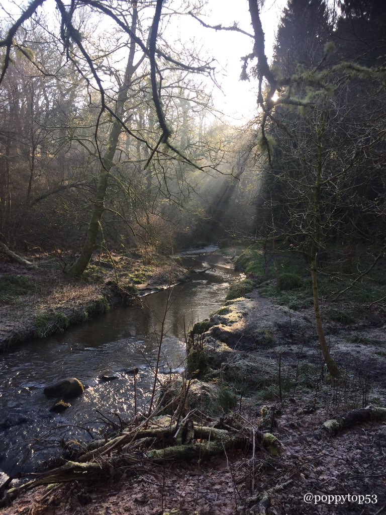
M 331 504 L 334 513 L 359 515 L 364 508 L 381 513 L 386 506 L 382 304 L 375 310 L 362 304 L 357 312 L 362 315 L 350 321 L 342 315 L 325 318 L 330 351 L 342 371 L 336 380 L 326 371 L 312 306 L 300 302 L 301 290 L 297 296 L 291 290 L 291 308 L 279 303 L 281 296 L 267 295 L 273 279 L 257 282 L 244 283 L 249 293 L 196 324 L 189 344 L 196 354 L 187 362 L 191 379 L 166 382 L 163 401 L 171 409 L 170 424 L 184 422 L 188 445 L 205 443 L 191 433 L 203 425 L 241 435 L 248 445 L 207 459 L 203 453 L 188 461 L 154 461 L 149 441 L 135 448 L 124 441 L 111 454 L 96 453 L 102 483 L 94 478 L 41 486 L 4 513 L 32 508 L 41 515 L 327 515 Z M 336 314 L 338 307 L 347 314 L 355 306 L 324 301 L 325 312 Z M 150 423 L 156 433 L 165 419 Z M 154 441 L 150 449 L 169 449 L 176 439 L 172 427 L 171 440 Z M 277 452 L 260 445 L 260 432 L 277 439 Z M 78 452 L 71 459 L 84 462 L 82 456 Z M 311 497 L 305 500 L 307 493 Z

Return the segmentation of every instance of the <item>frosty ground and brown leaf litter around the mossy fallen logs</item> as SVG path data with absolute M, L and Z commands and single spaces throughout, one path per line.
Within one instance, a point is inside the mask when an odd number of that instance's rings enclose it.
M 337 381 L 323 368 L 310 308 L 290 311 L 254 290 L 227 302 L 210 325 L 204 337 L 212 372 L 205 381 L 237 392 L 234 417 L 245 427 L 262 427 L 264 404 L 275 410 L 270 427 L 262 429 L 280 441 L 278 457 L 257 448 L 254 455 L 251 449 L 233 451 L 200 462 L 155 465 L 139 459 L 135 470 L 110 483 L 73 482 L 51 495 L 38 487 L 4 515 L 386 513 L 385 420 L 323 440 L 307 436 L 339 413 L 386 406 L 383 307 L 349 327 L 327 324 L 331 353 L 343 371 Z M 353 342 L 353 335 L 366 338 Z M 269 503 L 261 504 L 267 492 Z M 307 493 L 313 495 L 309 504 Z

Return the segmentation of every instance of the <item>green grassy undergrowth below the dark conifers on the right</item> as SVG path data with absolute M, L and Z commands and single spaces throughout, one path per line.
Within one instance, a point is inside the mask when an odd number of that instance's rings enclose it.
M 319 295 L 329 302 L 374 303 L 386 300 L 386 268 L 376 264 L 367 248 L 332 247 L 324 251 L 318 265 Z M 296 251 L 277 246 L 275 252 L 254 244 L 235 262 L 250 279 L 258 277 L 259 294 L 273 297 L 280 305 L 301 310 L 312 305 L 310 264 Z M 276 271 L 275 271 L 276 267 Z M 371 269 L 370 269 L 371 268 Z M 370 269 L 363 277 L 360 270 Z M 264 281 L 260 280 L 265 275 Z M 276 279 L 278 278 L 278 284 Z M 331 320 L 352 323 L 352 315 L 330 314 Z M 339 319 L 339 320 L 338 320 Z

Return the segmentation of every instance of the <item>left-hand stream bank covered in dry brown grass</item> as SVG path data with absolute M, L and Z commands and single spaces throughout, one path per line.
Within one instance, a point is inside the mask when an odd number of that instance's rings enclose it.
M 49 256 L 36 256 L 37 269 L 0 263 L 0 350 L 62 332 L 189 277 L 171 259 L 147 265 L 128 256 L 114 255 L 112 260 L 97 256 L 79 280 L 66 276 Z

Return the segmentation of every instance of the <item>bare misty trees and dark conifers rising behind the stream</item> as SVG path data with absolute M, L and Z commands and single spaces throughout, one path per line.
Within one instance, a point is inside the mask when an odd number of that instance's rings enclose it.
M 290 0 L 272 59 L 262 6 L 245 4 L 249 31 L 220 12 L 206 23 L 201 2 L 34 0 L 7 16 L 2 244 L 77 254 L 75 276 L 97 247 L 168 253 L 234 233 L 310 259 L 338 239 L 382 245 L 383 3 Z M 170 37 L 186 18 L 249 38 L 244 129 L 214 109 L 216 56 Z

